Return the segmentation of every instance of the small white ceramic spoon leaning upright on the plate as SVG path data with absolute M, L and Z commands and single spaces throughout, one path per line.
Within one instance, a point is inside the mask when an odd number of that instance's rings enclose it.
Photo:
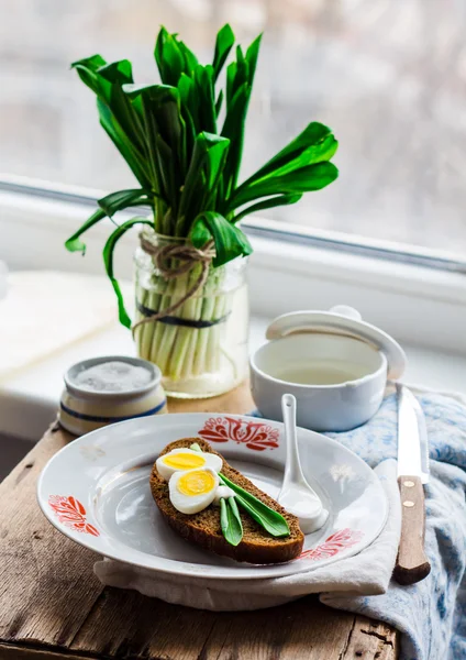
M 323 508 L 319 495 L 302 474 L 296 432 L 296 398 L 292 394 L 284 394 L 281 410 L 287 440 L 287 460 L 278 502 L 289 514 L 299 518 L 299 526 L 303 534 L 311 534 L 324 525 L 329 512 Z

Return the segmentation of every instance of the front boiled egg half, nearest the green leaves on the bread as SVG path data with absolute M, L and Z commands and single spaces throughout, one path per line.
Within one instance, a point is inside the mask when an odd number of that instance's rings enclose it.
M 218 487 L 219 475 L 211 468 L 175 472 L 168 482 L 170 502 L 181 514 L 198 514 L 208 507 Z

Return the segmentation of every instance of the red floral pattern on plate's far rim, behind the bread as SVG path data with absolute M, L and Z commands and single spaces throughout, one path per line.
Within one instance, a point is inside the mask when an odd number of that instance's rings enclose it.
M 233 417 L 211 417 L 199 436 L 209 442 L 228 442 L 232 440 L 237 444 L 245 444 L 248 449 L 264 451 L 276 449 L 280 431 L 273 429 L 263 421 L 246 421 Z

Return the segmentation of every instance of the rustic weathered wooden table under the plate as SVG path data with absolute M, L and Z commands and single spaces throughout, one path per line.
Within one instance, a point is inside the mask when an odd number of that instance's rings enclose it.
M 243 386 L 170 411 L 246 413 Z M 245 613 L 168 605 L 103 587 L 93 552 L 56 531 L 35 499 L 37 476 L 71 437 L 49 430 L 0 485 L 0 660 L 395 660 L 398 634 L 315 596 Z

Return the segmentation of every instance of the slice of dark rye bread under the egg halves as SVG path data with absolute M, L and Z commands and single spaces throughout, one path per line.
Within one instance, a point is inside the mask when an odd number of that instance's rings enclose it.
M 304 536 L 299 527 L 296 516 L 288 514 L 275 499 L 259 491 L 241 472 L 234 470 L 226 463 L 224 458 L 214 451 L 208 442 L 200 438 L 184 438 L 168 444 L 160 455 L 174 449 L 189 448 L 198 442 L 202 451 L 213 453 L 223 461 L 222 473 L 232 482 L 248 491 L 252 495 L 262 499 L 264 504 L 275 509 L 286 518 L 290 529 L 290 536 L 276 538 L 270 536 L 260 525 L 251 518 L 241 507 L 240 515 L 243 524 L 243 539 L 237 546 L 229 543 L 220 526 L 220 508 L 208 506 L 198 514 L 180 514 L 171 504 L 168 494 L 168 483 L 159 476 L 154 464 L 151 473 L 152 495 L 168 525 L 179 532 L 185 539 L 202 546 L 217 554 L 231 557 L 236 561 L 247 561 L 255 564 L 282 563 L 299 557 L 304 542 Z

